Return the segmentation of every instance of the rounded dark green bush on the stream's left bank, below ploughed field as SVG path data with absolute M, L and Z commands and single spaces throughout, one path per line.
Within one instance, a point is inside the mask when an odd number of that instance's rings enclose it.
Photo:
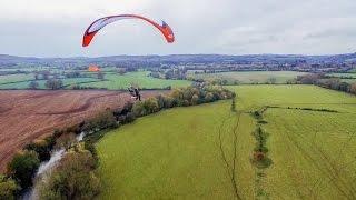
M 26 189 L 32 184 L 32 178 L 39 166 L 37 152 L 24 150 L 13 157 L 8 164 L 8 173 Z

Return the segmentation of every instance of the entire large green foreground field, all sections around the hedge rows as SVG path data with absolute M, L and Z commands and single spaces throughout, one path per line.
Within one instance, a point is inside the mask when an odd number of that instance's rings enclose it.
M 355 199 L 355 96 L 313 86 L 230 89 L 238 113 L 220 101 L 162 111 L 108 133 L 98 143 L 101 198 L 233 199 L 236 186 L 241 199 Z M 278 107 L 265 111 L 263 124 L 273 164 L 258 169 L 250 162 L 257 123 L 249 112 L 266 106 Z

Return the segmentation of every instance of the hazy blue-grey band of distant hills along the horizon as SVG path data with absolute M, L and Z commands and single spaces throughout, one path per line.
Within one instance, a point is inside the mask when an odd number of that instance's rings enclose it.
M 71 57 L 71 58 L 34 58 L 0 54 L 0 67 L 9 64 L 88 64 L 88 63 L 118 63 L 118 62 L 157 62 L 157 63 L 308 63 L 308 64 L 340 64 L 356 63 L 356 53 L 330 56 L 303 54 L 169 54 L 169 56 L 110 56 L 110 57 Z

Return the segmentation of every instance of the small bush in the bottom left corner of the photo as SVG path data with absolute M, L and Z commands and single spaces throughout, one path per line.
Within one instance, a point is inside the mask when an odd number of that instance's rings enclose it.
M 11 178 L 0 174 L 0 199 L 13 200 L 20 187 Z

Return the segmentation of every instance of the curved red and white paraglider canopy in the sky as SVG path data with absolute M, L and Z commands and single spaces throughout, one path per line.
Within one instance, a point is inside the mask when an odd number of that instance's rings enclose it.
M 92 22 L 88 29 L 85 32 L 83 39 L 82 39 L 82 47 L 87 47 L 90 44 L 92 38 L 97 34 L 97 32 L 102 29 L 103 27 L 106 27 L 109 23 L 116 22 L 118 20 L 125 20 L 125 19 L 140 19 L 144 20 L 150 24 L 152 24 L 154 27 L 156 27 L 166 38 L 168 43 L 172 43 L 175 41 L 175 34 L 171 30 L 171 28 L 165 22 L 162 21 L 162 24 L 158 24 L 155 21 L 148 19 L 148 18 L 144 18 L 141 16 L 136 16 L 136 14 L 120 14 L 120 16 L 109 16 L 109 17 L 105 17 L 105 18 L 100 18 L 98 20 L 96 20 L 95 22 Z

